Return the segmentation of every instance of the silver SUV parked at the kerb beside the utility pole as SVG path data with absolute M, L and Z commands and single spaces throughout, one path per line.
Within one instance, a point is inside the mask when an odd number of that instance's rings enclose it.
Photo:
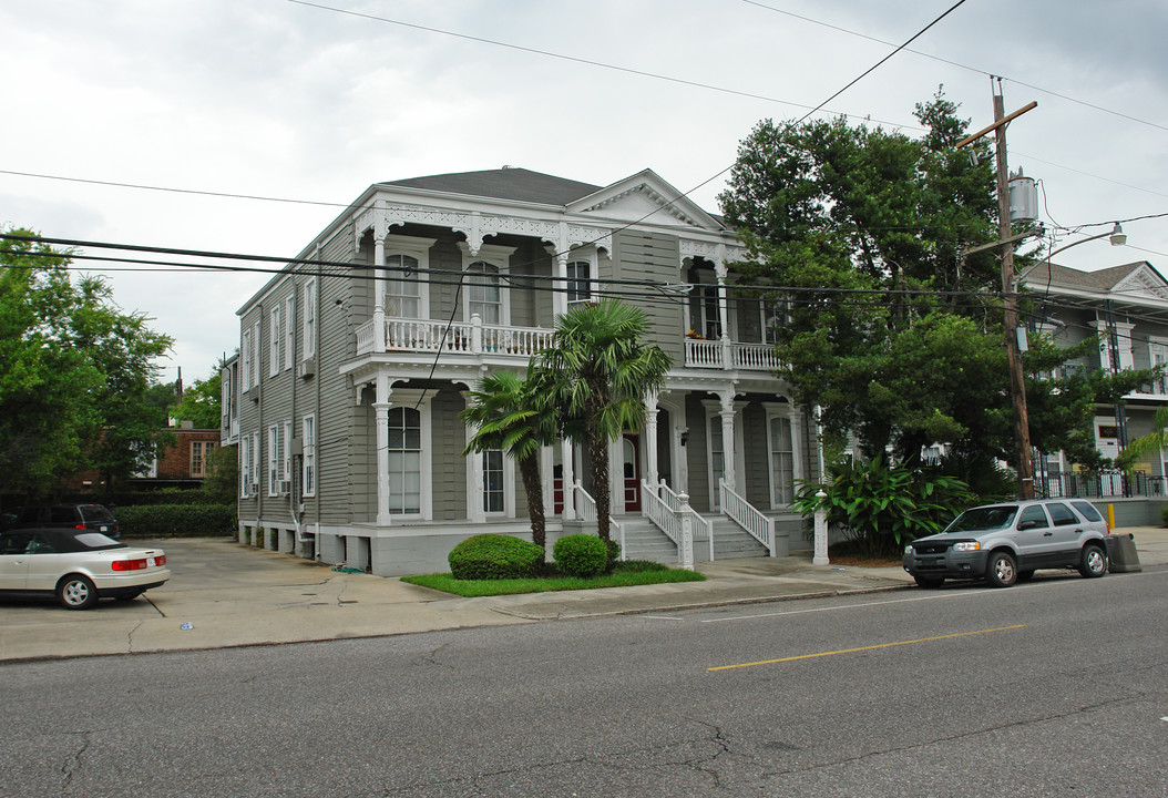
M 980 578 L 1008 588 L 1038 568 L 1077 568 L 1083 576 L 1103 576 L 1111 544 L 1106 521 L 1089 501 L 1007 501 L 967 509 L 945 532 L 912 541 L 903 563 L 922 588 Z

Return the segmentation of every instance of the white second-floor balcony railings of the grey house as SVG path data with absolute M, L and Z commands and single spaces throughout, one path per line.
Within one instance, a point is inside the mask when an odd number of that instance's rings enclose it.
M 485 324 L 478 315 L 470 321 L 437 319 L 384 319 L 383 336 L 378 340 L 375 320 L 369 319 L 356 329 L 356 354 L 380 352 L 436 352 L 452 355 L 514 360 L 526 362 L 552 344 L 552 331 L 545 327 L 517 327 Z M 729 339 L 703 340 L 684 338 L 681 332 L 673 342 L 662 346 L 676 348 L 683 341 L 684 367 L 693 369 L 773 372 L 779 368 L 774 347 L 769 344 L 744 344 Z M 672 346 L 670 346 L 672 344 Z

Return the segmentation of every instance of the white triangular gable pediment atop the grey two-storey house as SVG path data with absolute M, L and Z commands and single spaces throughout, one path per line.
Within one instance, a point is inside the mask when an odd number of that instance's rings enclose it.
M 688 229 L 721 230 L 722 225 L 689 197 L 645 169 L 620 180 L 596 194 L 568 206 L 569 213 L 597 216 L 619 222 L 639 222 L 653 227 L 670 225 Z

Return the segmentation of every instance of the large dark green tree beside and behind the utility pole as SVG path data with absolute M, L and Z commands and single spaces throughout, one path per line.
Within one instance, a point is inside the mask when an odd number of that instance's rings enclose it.
M 1014 457 L 999 262 L 965 256 L 997 240 L 992 159 L 985 143 L 975 160 L 953 147 L 968 126 L 957 110 L 940 91 L 918 104 L 922 139 L 764 120 L 718 197 L 751 254 L 735 265 L 743 284 L 776 286 L 742 293 L 786 303 L 774 333 L 795 401 L 869 458 L 912 462 L 933 443 Z M 1093 404 L 1148 374 L 1038 379 L 1075 356 L 1031 336 L 1031 438 L 1090 459 Z

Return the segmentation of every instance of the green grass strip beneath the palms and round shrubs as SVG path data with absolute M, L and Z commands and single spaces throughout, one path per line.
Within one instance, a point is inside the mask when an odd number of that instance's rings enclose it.
M 402 582 L 419 584 L 444 592 L 471 598 L 473 596 L 506 596 L 509 594 L 534 594 L 549 590 L 590 590 L 592 588 L 626 588 L 634 584 L 661 584 L 665 582 L 704 582 L 696 571 L 667 568 L 659 563 L 631 560 L 617 563 L 612 574 L 582 580 L 576 576 L 536 576 L 527 580 L 456 580 L 450 574 L 423 574 L 403 576 Z

